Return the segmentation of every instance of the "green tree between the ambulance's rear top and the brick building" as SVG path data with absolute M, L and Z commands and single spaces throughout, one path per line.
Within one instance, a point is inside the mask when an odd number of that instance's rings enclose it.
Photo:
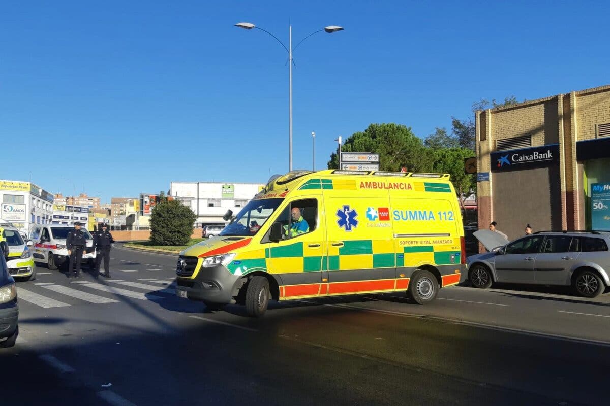
M 434 151 L 434 172 L 449 173 L 456 195 L 464 210 L 464 201 L 476 191 L 475 175 L 464 173 L 464 159 L 472 156 L 467 148 L 445 148 Z

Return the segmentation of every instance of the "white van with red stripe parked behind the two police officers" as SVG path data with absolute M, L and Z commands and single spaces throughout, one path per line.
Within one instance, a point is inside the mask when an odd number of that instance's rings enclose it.
M 63 264 L 67 266 L 70 256 L 66 250 L 66 237 L 73 229 L 74 227 L 62 224 L 32 226 L 30 240 L 34 243 L 34 247 L 32 247 L 34 262 L 46 264 L 51 270 L 56 270 Z M 81 231 L 85 233 L 85 240 L 87 240 L 87 251 L 82 256 L 82 262 L 88 262 L 89 266 L 93 267 L 95 263 L 93 237 L 86 229 L 81 228 Z

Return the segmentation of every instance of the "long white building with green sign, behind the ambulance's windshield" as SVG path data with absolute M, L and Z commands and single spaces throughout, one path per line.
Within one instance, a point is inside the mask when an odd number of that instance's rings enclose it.
M 262 190 L 264 184 L 229 182 L 171 182 L 168 196 L 192 209 L 195 226 L 224 223 L 224 213 L 235 214 Z

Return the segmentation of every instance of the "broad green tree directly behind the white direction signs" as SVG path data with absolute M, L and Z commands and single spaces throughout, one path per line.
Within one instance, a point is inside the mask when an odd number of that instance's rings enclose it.
M 414 135 L 411 127 L 402 124 L 371 124 L 366 130 L 349 136 L 341 150 L 378 153 L 380 170 L 398 171 L 403 166 L 414 172 L 429 172 L 432 169 L 432 156 L 422 139 Z M 338 148 L 328 161 L 329 169 L 337 168 L 337 153 Z

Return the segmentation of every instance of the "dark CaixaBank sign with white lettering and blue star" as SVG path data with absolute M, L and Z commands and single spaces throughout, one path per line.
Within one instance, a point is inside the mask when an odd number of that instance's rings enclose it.
M 490 158 L 493 172 L 558 165 L 559 144 L 492 152 Z

